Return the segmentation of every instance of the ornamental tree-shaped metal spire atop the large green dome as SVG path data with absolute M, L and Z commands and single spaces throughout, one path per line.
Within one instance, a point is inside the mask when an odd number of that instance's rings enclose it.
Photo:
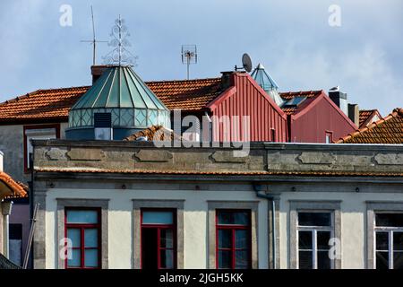
M 105 57 L 102 57 L 104 64 L 106 65 L 136 65 L 137 56 L 134 56 L 127 47 L 131 47 L 132 44 L 127 39 L 130 37 L 130 33 L 127 30 L 125 21 L 119 15 L 116 19 L 115 25 L 112 27 L 110 37 L 112 38 L 108 42 L 109 47 L 114 47 Z

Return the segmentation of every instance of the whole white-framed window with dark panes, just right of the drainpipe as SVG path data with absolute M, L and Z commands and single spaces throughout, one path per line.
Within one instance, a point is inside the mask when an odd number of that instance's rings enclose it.
M 333 238 L 332 213 L 299 212 L 297 246 L 299 269 L 330 269 L 329 240 Z

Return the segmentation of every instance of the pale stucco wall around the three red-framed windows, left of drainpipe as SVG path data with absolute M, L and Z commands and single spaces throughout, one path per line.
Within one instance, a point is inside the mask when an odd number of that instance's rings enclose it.
M 46 268 L 57 268 L 59 247 L 57 242 L 57 199 L 85 198 L 108 199 L 108 266 L 109 268 L 133 268 L 133 200 L 184 200 L 184 268 L 208 268 L 208 201 L 256 201 L 253 190 L 148 189 L 140 184 L 136 189 L 116 190 L 94 184 L 83 184 L 80 189 L 52 188 L 47 191 L 46 212 Z M 89 188 L 84 188 L 88 186 Z M 92 186 L 92 188 L 90 188 Z M 161 187 L 160 187 L 161 188 Z M 251 187 L 249 187 L 251 188 Z M 142 190 L 141 190 L 142 189 Z M 230 188 L 226 188 L 230 189 Z M 235 188 L 232 188 L 235 189 Z M 259 267 L 268 267 L 267 202 L 259 203 L 258 249 Z

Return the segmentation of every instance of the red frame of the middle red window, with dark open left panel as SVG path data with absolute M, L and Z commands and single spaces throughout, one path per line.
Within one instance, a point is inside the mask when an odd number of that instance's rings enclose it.
M 172 224 L 149 224 L 142 223 L 142 213 L 144 212 L 170 212 L 173 216 Z M 173 269 L 176 269 L 176 209 L 173 208 L 141 208 L 141 219 L 140 219 L 140 257 L 141 257 L 141 268 L 142 268 L 142 229 L 157 229 L 157 266 L 158 269 L 167 269 L 161 267 L 161 250 L 173 250 L 174 257 L 174 266 Z M 173 248 L 161 248 L 161 230 L 172 230 L 173 236 Z

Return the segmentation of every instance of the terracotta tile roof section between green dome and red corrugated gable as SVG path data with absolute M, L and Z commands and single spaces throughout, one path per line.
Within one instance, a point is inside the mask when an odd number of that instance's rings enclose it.
M 168 109 L 204 109 L 222 92 L 221 78 L 146 83 Z

